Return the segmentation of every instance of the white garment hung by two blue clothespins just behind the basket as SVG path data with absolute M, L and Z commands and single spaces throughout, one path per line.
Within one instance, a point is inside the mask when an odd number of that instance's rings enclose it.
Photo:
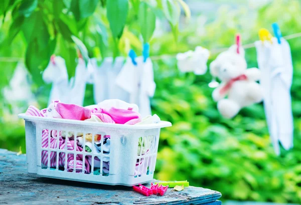
M 130 94 L 129 103 L 138 105 L 141 117 L 152 114 L 149 98 L 153 97 L 156 90 L 154 81 L 154 70 L 152 61 L 143 57 L 135 58 L 137 65 L 132 63 L 131 58 L 127 58 L 116 78 L 116 84 Z

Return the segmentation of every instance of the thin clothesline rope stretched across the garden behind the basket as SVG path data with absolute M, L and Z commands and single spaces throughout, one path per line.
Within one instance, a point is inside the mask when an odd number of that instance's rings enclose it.
M 290 39 L 295 39 L 295 38 L 299 38 L 299 37 L 301 37 L 301 32 L 284 36 L 283 39 L 290 40 Z M 244 49 L 255 48 L 255 45 L 254 45 L 254 43 L 245 44 L 245 45 L 242 45 L 242 48 L 244 48 Z M 221 53 L 226 50 L 228 50 L 228 48 L 217 48 L 217 49 L 212 49 L 210 51 L 210 53 L 217 54 L 217 53 Z M 151 56 L 150 59 L 152 59 L 153 61 L 158 61 L 158 60 L 163 60 L 163 59 L 176 58 L 176 56 L 177 56 L 177 54 L 163 54 L 160 56 Z M 24 61 L 24 58 L 0 57 L 0 62 L 20 62 L 20 61 Z

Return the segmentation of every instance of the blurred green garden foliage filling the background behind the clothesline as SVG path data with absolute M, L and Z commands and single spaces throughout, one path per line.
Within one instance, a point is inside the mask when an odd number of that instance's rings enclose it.
M 41 2 L 45 3 L 41 5 L 48 4 L 47 1 Z M 72 2 L 75 4 L 82 1 Z M 122 36 L 118 34 L 120 28 L 115 28 L 113 35 L 116 38 L 112 38 L 109 32 L 110 18 L 108 17 L 108 20 L 105 15 L 105 2 L 96 1 L 95 11 L 85 11 L 84 14 L 76 9 L 80 7 L 75 4 L 72 7 L 73 13 L 76 14 L 74 17 L 67 15 L 69 19 L 66 19 L 61 15 L 57 21 L 53 20 L 56 18 L 56 10 L 45 12 L 41 8 L 35 9 L 35 15 L 42 15 L 43 18 L 46 15 L 49 21 L 55 22 L 54 28 L 57 28 L 57 31 L 52 31 L 48 24 L 36 21 L 36 35 L 32 36 L 33 41 L 29 40 L 26 34 L 28 31 L 25 31 L 32 23 L 24 24 L 26 27 L 21 28 L 22 33 L 17 32 L 16 29 L 11 29 L 14 12 L 8 14 L 11 16 L 6 17 L 0 27 L 0 87 L 8 85 L 17 65 L 15 61 L 8 59 L 26 57 L 30 59 L 25 60 L 29 70 L 35 66 L 40 66 L 39 69 L 43 70 L 43 66 L 48 63 L 44 60 L 49 60 L 48 57 L 52 54 L 49 48 L 52 48 L 54 40 L 54 53 L 76 59 L 76 45 L 71 38 L 69 39 L 71 35 L 83 42 L 89 57 L 99 60 L 111 55 L 126 55 L 129 47 L 136 53 L 141 53 L 139 36 L 143 23 L 139 22 L 138 18 L 140 1 L 130 1 Z M 145 2 L 152 5 L 152 1 Z M 161 1 L 157 3 L 159 6 L 152 6 L 152 9 L 163 24 L 156 28 L 159 34 L 149 41 L 150 56 L 186 52 L 196 46 L 203 46 L 209 50 L 229 47 L 233 44 L 237 32 L 241 34 L 243 44 L 252 43 L 258 40 L 258 30 L 267 28 L 271 31 L 273 22 L 279 24 L 283 36 L 301 31 L 301 3 L 298 0 L 277 0 L 251 9 L 244 5 L 235 9 L 221 6 L 216 13 L 208 15 L 204 24 L 204 18 L 201 16 L 193 17 L 190 22 L 181 17 L 180 32 L 177 30 L 177 22 L 173 22 L 177 13 L 173 13 L 173 10 L 163 11 L 160 7 Z M 166 4 L 170 4 L 170 1 Z M 24 10 L 25 13 L 30 11 L 28 8 Z M 167 20 L 170 23 L 167 23 Z M 65 27 L 59 24 L 67 24 L 69 31 L 65 31 Z M 46 34 L 43 34 L 44 30 L 39 30 L 44 27 L 47 27 Z M 166 27 L 168 29 L 165 29 Z M 16 37 L 12 39 L 14 34 Z M 149 33 L 142 35 L 149 39 Z M 43 41 L 42 37 L 47 41 Z M 220 191 L 223 199 L 301 202 L 301 38 L 288 42 L 294 67 L 291 88 L 294 148 L 289 151 L 282 149 L 280 156 L 274 154 L 271 146 L 262 104 L 244 108 L 232 120 L 223 119 L 216 110 L 216 103 L 211 99 L 212 89 L 208 87 L 211 81 L 209 73 L 204 76 L 182 74 L 177 69 L 175 58 L 153 61 L 157 83 L 156 94 L 152 100 L 153 112 L 162 120 L 173 123 L 172 127 L 161 131 L 156 178 L 187 179 L 191 185 Z M 27 52 L 31 44 L 38 46 Z M 47 50 L 43 54 L 45 58 L 40 54 L 44 49 Z M 248 66 L 257 67 L 255 49 L 247 49 L 245 52 Z M 215 57 L 216 54 L 213 53 L 210 61 Z M 72 66 L 75 63 L 74 60 L 69 62 L 69 77 L 74 72 Z M 37 106 L 44 108 L 47 106 L 50 85 L 37 80 L 39 72 L 35 69 L 31 73 Z M 91 85 L 87 86 L 85 105 L 94 103 L 92 89 Z M 2 98 L 2 95 L 0 97 Z M 25 152 L 24 122 L 12 115 L 16 106 L 25 111 L 28 104 L 0 100 L 0 148 L 18 151 L 21 146 Z

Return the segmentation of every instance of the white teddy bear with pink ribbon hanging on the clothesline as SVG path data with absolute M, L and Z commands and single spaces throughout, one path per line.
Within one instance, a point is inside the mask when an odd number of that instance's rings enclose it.
M 244 50 L 240 47 L 239 51 L 238 54 L 237 46 L 233 45 L 210 64 L 211 75 L 222 81 L 212 97 L 225 118 L 234 117 L 241 108 L 259 103 L 263 98 L 261 87 L 256 83 L 260 79 L 259 69 L 247 69 Z

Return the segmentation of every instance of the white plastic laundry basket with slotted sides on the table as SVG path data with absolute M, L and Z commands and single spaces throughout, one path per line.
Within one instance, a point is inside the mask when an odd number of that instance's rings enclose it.
M 145 183 L 153 179 L 160 128 L 172 125 L 166 121 L 148 125 L 123 125 L 29 116 L 25 114 L 19 114 L 19 117 L 25 120 L 26 158 L 29 173 L 37 173 L 51 178 L 126 186 Z M 46 147 L 42 147 L 43 130 L 49 130 Z M 110 147 L 107 151 L 103 151 L 104 148 L 101 148 L 100 153 L 94 152 L 94 146 L 92 146 L 91 152 L 86 152 L 85 149 L 78 151 L 76 148 L 70 150 L 67 146 L 64 146 L 64 148 L 61 148 L 61 146 L 52 148 L 50 146 L 50 138 L 53 131 L 65 133 L 66 135 L 72 133 L 74 142 L 77 141 L 76 138 L 78 136 L 82 136 L 84 138 L 83 147 L 86 144 L 86 134 L 92 134 L 92 144 L 94 144 L 95 135 L 101 136 L 102 147 L 104 136 L 110 136 Z M 57 137 L 55 140 L 57 145 L 59 145 L 59 138 Z M 44 162 L 45 164 L 42 163 L 42 152 L 47 153 L 48 159 L 46 157 L 47 163 Z M 68 164 L 68 157 L 70 155 L 74 159 L 77 159 L 78 156 L 82 158 L 82 171 L 76 171 L 76 163 L 72 165 Z M 50 161 L 50 156 L 56 157 L 54 165 Z M 99 167 L 94 166 L 96 157 L 100 161 Z M 90 160 L 91 172 L 85 171 L 85 162 L 88 158 L 92 159 Z M 60 159 L 60 164 L 63 163 L 63 167 L 59 165 Z M 106 167 L 109 170 L 107 174 L 103 174 L 103 163 L 109 166 Z M 94 171 L 94 169 L 99 171 Z

